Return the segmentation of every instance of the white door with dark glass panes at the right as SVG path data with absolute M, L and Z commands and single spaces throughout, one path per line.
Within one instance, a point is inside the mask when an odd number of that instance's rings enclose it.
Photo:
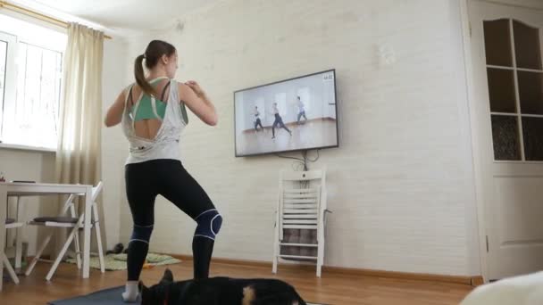
M 543 270 L 543 11 L 472 1 L 488 279 Z

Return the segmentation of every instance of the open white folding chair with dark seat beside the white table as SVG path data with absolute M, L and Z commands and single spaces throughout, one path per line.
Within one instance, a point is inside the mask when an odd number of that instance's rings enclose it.
M 102 273 L 104 273 L 104 250 L 102 247 L 102 236 L 100 235 L 100 222 L 98 218 L 98 210 L 96 205 L 96 198 L 98 197 L 98 194 L 100 194 L 100 191 L 102 190 L 102 182 L 99 182 L 96 186 L 92 189 L 92 207 L 91 207 L 91 226 L 95 229 L 96 232 L 96 243 L 98 243 L 98 258 L 100 260 L 100 270 Z M 63 209 L 61 210 L 61 213 L 57 217 L 38 217 L 34 218 L 33 221 L 29 222 L 29 225 L 33 226 L 44 226 L 44 227 L 60 227 L 60 228 L 71 228 L 70 234 L 68 235 L 68 238 L 66 239 L 66 242 L 63 244 L 63 248 L 59 252 L 56 260 L 43 260 L 41 259 L 41 255 L 43 251 L 46 249 L 47 244 L 49 241 L 51 241 L 51 237 L 53 236 L 54 232 L 51 230 L 49 234 L 46 236 L 46 239 L 44 242 L 39 246 L 38 251 L 36 252 L 36 256 L 34 259 L 30 262 L 29 268 L 27 268 L 25 275 L 29 276 L 29 274 L 32 272 L 34 267 L 36 266 L 36 263 L 38 261 L 47 261 L 47 262 L 53 262 L 53 266 L 51 269 L 49 269 L 49 272 L 46 275 L 46 280 L 50 281 L 51 277 L 54 275 L 54 271 L 56 271 L 56 268 L 58 268 L 58 265 L 63 260 L 64 256 L 66 255 L 66 252 L 68 251 L 68 248 L 71 245 L 71 242 L 74 242 L 75 245 L 75 257 L 77 266 L 80 269 L 81 268 L 81 251 L 79 248 L 79 228 L 83 227 L 83 219 L 85 218 L 85 213 L 81 212 L 79 216 L 77 216 L 75 212 L 75 206 L 73 203 L 75 196 L 73 194 L 68 197 L 68 200 L 64 202 Z M 70 212 L 70 216 L 64 216 L 68 212 Z

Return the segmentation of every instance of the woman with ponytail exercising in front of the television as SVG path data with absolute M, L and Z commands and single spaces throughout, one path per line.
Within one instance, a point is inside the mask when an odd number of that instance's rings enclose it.
M 151 41 L 146 52 L 136 58 L 136 83 L 122 90 L 104 120 L 107 127 L 121 123 L 129 141 L 125 179 L 133 229 L 128 246 L 128 281 L 122 293 L 127 302 L 138 299 L 138 279 L 155 225 L 158 194 L 196 221 L 192 240 L 196 279 L 209 276 L 213 243 L 221 228 L 221 215 L 180 161 L 179 143 L 180 133 L 188 124 L 185 105 L 210 126 L 217 124 L 217 112 L 196 81 L 179 83 L 172 79 L 177 69 L 175 47 Z

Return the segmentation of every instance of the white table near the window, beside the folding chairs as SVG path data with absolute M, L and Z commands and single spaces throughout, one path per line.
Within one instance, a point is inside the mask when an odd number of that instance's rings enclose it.
M 51 194 L 78 194 L 85 196 L 85 218 L 83 219 L 83 278 L 90 273 L 90 213 L 92 206 L 92 185 L 59 185 L 44 183 L 0 183 L 0 262 L 5 248 L 5 210 L 8 196 L 42 196 Z M 0 268 L 0 291 L 4 268 Z

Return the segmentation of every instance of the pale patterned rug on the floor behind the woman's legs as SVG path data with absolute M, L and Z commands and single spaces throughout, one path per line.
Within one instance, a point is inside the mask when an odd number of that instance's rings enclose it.
M 65 260 L 68 263 L 75 264 L 75 259 L 68 259 Z M 154 266 L 162 266 L 162 265 L 171 265 L 171 264 L 177 264 L 180 263 L 181 260 L 174 259 L 169 255 L 162 255 L 162 254 L 155 254 L 155 253 L 149 253 L 147 254 L 146 258 L 146 265 L 144 265 L 144 268 L 146 267 L 154 267 Z M 113 271 L 113 270 L 125 270 L 126 267 L 126 254 L 108 254 L 104 255 L 104 265 L 105 270 Z M 90 268 L 99 269 L 100 268 L 100 260 L 98 257 L 91 257 L 90 258 Z

